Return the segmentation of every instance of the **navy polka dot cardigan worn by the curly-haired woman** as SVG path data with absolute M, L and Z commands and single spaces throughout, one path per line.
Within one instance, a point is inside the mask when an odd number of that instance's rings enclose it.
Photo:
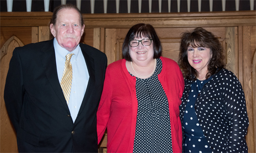
M 182 125 L 192 83 L 185 80 L 180 105 Z M 244 91 L 231 71 L 221 69 L 203 86 L 195 112 L 212 152 L 248 152 L 244 138 L 249 124 Z

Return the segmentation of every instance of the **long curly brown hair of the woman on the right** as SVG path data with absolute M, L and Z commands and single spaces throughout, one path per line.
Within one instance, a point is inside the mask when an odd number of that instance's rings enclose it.
M 187 48 L 191 47 L 206 47 L 210 48 L 211 58 L 209 59 L 206 74 L 206 79 L 211 75 L 216 74 L 225 66 L 223 48 L 217 36 L 206 31 L 203 28 L 196 28 L 191 32 L 181 34 L 179 66 L 183 72 L 183 76 L 188 80 L 196 80 L 198 73 L 188 62 Z

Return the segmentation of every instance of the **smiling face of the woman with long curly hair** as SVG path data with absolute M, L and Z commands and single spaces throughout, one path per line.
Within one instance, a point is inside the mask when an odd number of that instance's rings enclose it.
M 189 64 L 195 68 L 199 74 L 208 72 L 207 65 L 211 58 L 210 48 L 206 47 L 191 47 L 187 48 L 187 59 Z

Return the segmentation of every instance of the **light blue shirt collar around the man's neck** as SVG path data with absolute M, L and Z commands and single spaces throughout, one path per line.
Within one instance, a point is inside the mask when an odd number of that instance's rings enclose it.
M 75 57 L 75 59 L 77 59 L 77 56 L 78 56 L 78 54 L 79 54 L 79 50 L 81 50 L 80 49 L 80 46 L 79 46 L 79 44 L 76 46 L 76 48 L 72 51 L 72 52 L 69 52 L 69 50 L 67 50 L 67 49 L 65 49 L 65 48 L 63 48 L 63 47 L 61 47 L 60 45 L 59 45 L 59 43 L 58 43 L 58 41 L 57 41 L 57 39 L 56 38 L 54 38 L 54 40 L 53 40 L 53 46 L 54 46 L 54 50 L 55 50 L 55 53 L 58 55 L 58 56 L 60 56 L 61 58 L 63 58 L 63 59 L 66 59 L 66 55 L 68 55 L 68 54 L 70 54 L 70 53 L 73 53 L 75 56 L 73 56 L 73 57 Z

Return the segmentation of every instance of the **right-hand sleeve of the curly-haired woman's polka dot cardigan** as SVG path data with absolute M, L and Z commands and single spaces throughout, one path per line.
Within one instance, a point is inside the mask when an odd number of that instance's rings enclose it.
M 230 71 L 229 71 L 230 72 Z M 242 86 L 237 77 L 230 72 L 223 83 L 224 103 L 230 124 L 227 136 L 227 152 L 247 152 L 245 135 L 249 120 L 246 111 L 245 96 Z

